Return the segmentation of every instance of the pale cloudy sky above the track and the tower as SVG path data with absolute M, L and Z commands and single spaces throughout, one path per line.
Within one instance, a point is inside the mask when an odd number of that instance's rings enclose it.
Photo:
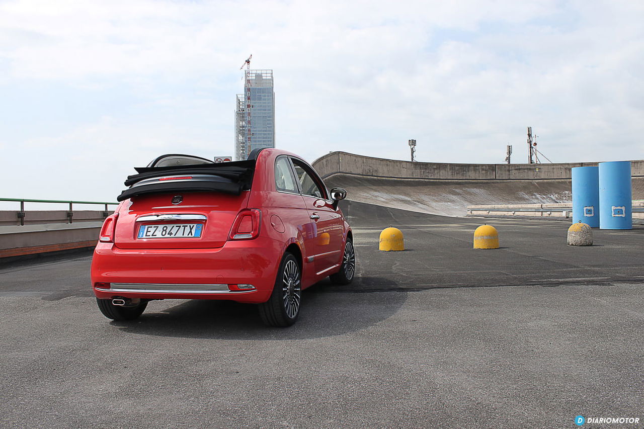
M 276 144 L 426 162 L 644 158 L 644 3 L 0 0 L 0 196 L 115 200 L 162 153 L 232 155 L 240 66 Z

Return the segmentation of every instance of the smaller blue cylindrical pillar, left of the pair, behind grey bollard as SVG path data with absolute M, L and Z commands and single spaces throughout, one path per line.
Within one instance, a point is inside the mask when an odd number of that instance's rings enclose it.
M 599 167 L 574 167 L 573 224 L 583 222 L 593 228 L 600 225 Z

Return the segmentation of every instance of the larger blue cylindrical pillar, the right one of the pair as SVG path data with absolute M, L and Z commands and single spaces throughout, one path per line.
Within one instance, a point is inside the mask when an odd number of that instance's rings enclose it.
M 600 162 L 600 229 L 633 229 L 630 161 Z

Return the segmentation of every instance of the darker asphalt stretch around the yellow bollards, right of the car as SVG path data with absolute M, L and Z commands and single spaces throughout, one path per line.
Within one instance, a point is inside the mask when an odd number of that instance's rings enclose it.
M 451 218 L 348 202 L 354 225 L 359 278 L 349 287 L 365 291 L 433 287 L 559 285 L 644 281 L 644 226 L 593 229 L 594 244 L 566 244 L 570 220 Z M 498 231 L 499 249 L 473 249 L 475 229 Z M 404 235 L 403 252 L 379 252 L 384 227 Z

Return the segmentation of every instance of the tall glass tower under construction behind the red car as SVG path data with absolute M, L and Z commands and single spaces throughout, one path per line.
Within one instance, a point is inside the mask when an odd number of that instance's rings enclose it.
M 235 160 L 252 149 L 275 147 L 275 93 L 272 70 L 244 70 L 244 93 L 237 94 Z

